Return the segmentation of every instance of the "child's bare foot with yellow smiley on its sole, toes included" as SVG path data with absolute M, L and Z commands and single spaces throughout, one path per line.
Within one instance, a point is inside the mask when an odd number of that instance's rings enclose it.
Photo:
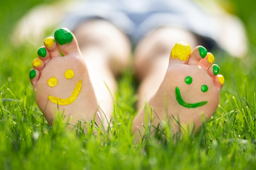
M 76 38 L 66 28 L 57 30 L 54 37 L 45 39 L 29 72 L 36 103 L 49 124 L 58 110 L 73 125 L 78 120 L 93 120 L 95 113 L 101 115 L 101 111 Z M 100 124 L 97 114 L 95 121 Z

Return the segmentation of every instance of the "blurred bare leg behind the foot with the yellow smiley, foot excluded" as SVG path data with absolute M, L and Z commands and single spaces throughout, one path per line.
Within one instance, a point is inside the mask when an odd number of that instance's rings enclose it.
M 115 77 L 127 67 L 130 59 L 128 37 L 105 20 L 85 22 L 73 32 L 87 63 L 99 106 L 110 117 L 112 95 L 117 90 Z

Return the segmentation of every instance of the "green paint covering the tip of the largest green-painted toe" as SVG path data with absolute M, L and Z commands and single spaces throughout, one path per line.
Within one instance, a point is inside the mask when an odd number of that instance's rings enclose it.
M 60 28 L 54 33 L 54 37 L 58 44 L 70 44 L 73 41 L 73 34 L 67 28 Z

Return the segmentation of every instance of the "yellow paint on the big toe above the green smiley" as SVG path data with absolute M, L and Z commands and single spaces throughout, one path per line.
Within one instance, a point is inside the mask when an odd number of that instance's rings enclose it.
M 181 61 L 187 61 L 189 59 L 190 54 L 191 47 L 185 41 L 177 42 L 171 51 L 171 57 L 173 59 L 180 59 Z

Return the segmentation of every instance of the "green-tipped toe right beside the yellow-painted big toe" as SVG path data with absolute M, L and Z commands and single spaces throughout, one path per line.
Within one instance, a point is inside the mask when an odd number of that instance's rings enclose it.
M 207 56 L 207 49 L 204 48 L 203 46 L 197 46 L 192 51 L 187 64 L 198 65 L 201 59 L 204 59 L 206 56 Z

